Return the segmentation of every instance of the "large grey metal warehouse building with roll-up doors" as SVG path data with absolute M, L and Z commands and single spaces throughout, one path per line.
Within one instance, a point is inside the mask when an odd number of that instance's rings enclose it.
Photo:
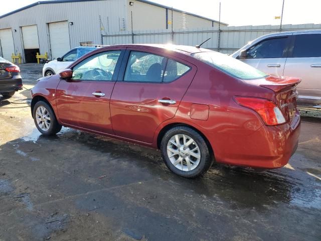
M 173 17 L 172 17 L 173 16 Z M 227 24 L 221 23 L 222 26 Z M 122 31 L 213 27 L 218 22 L 143 0 L 40 1 L 0 16 L 0 55 L 36 62 L 36 53 L 61 57 L 83 42 Z

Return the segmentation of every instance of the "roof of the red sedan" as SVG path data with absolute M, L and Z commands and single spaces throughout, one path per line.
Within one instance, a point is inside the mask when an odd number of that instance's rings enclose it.
M 193 53 L 199 52 L 209 52 L 213 50 L 205 49 L 205 48 L 196 48 L 195 46 L 187 46 L 187 45 L 174 45 L 174 44 L 122 44 L 122 45 L 111 45 L 108 47 L 120 47 L 120 48 L 140 48 L 140 49 L 168 49 L 175 52 L 183 53 L 186 55 L 191 55 Z

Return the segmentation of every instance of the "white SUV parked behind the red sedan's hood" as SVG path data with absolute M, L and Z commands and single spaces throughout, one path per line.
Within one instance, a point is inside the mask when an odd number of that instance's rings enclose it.
M 54 74 L 59 74 L 59 72 L 66 69 L 76 59 L 79 59 L 83 55 L 89 53 L 90 51 L 93 51 L 96 48 L 97 47 L 85 47 L 85 46 L 74 48 L 74 49 L 70 50 L 69 52 L 67 52 L 61 58 L 57 58 L 56 60 L 46 63 L 42 69 L 42 75 L 43 76 L 50 76 L 50 75 L 54 75 Z

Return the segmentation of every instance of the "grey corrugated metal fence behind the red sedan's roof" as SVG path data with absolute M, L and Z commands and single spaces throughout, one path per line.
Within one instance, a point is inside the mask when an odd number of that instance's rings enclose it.
M 239 27 L 221 27 L 220 52 L 233 53 L 243 47 L 249 41 L 252 41 L 262 35 L 279 32 L 279 25 L 264 26 L 239 26 Z M 305 29 L 321 29 L 321 24 L 301 24 L 301 25 L 283 25 L 282 31 L 295 31 Z M 218 49 L 218 29 L 202 28 L 188 30 L 174 30 L 173 44 L 192 45 L 202 43 L 211 38 L 202 47 L 217 50 Z M 170 30 L 164 31 L 134 31 L 135 44 L 168 44 L 172 41 Z M 113 33 L 103 37 L 103 43 L 107 45 L 128 44 L 131 43 L 131 32 L 126 31 L 119 35 Z

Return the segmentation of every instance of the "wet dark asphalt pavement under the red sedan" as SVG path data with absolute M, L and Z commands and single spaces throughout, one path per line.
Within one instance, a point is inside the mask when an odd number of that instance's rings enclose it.
M 21 65 L 25 87 L 41 66 Z M 171 173 L 158 151 L 63 128 L 41 136 L 28 90 L 0 97 L 0 240 L 321 240 L 321 119 L 289 164 Z M 27 107 L 26 107 L 27 106 Z

